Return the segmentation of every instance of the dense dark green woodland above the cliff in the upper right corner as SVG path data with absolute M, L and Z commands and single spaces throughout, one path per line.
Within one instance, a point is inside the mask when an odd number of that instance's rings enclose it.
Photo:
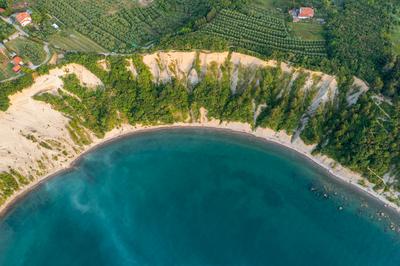
M 394 27 L 396 5 L 396 0 L 346 0 L 328 9 L 331 58 L 378 89 L 382 88 L 380 74 L 393 60 L 388 33 Z

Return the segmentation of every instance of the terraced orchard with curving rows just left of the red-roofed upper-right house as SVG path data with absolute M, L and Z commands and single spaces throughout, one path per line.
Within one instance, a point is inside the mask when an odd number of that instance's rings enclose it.
M 313 58 L 326 56 L 324 40 L 295 39 L 288 33 L 282 18 L 269 16 L 266 12 L 250 15 L 234 10 L 222 10 L 212 23 L 207 24 L 201 31 L 263 55 L 280 51 Z

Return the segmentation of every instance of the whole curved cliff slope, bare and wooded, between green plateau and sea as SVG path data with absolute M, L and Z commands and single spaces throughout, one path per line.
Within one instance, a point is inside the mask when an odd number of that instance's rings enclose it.
M 358 79 L 229 52 L 77 54 L 10 103 L 0 112 L 1 202 L 104 139 L 173 124 L 275 140 L 399 201 L 400 105 Z

